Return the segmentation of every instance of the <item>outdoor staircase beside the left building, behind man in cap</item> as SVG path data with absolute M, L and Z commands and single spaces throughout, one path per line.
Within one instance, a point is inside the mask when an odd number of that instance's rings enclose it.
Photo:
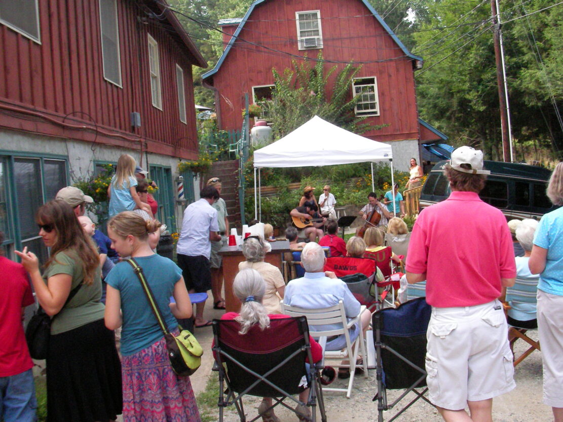
M 216 161 L 212 164 L 211 173 L 207 174 L 202 182 L 205 185 L 211 177 L 221 179 L 221 197 L 227 205 L 229 225 L 240 228 L 242 225 L 240 224 L 238 170 L 239 160 Z

